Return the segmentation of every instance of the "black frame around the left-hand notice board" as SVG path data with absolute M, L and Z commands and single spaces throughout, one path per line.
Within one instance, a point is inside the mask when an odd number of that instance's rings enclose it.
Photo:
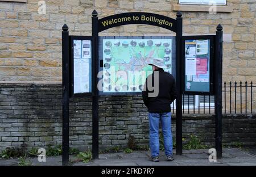
M 91 57 L 90 57 L 90 65 L 89 65 L 89 82 L 90 82 L 90 90 L 89 92 L 79 92 L 75 93 L 74 92 L 74 40 L 89 40 L 90 41 L 90 52 L 91 52 Z M 93 94 L 93 82 L 92 82 L 92 69 L 93 69 L 93 37 L 92 36 L 69 36 L 69 48 L 70 53 L 70 60 L 69 60 L 69 78 L 71 78 L 71 81 L 69 82 L 69 98 L 75 97 L 75 98 L 82 98 L 84 96 L 92 96 Z

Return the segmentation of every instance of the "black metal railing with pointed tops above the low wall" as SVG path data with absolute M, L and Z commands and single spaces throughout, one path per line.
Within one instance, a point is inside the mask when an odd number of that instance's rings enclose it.
M 256 113 L 255 85 L 253 82 L 224 82 L 222 86 L 223 113 Z M 183 95 L 183 113 L 214 114 L 214 96 L 210 95 Z M 175 104 L 172 104 L 172 113 L 175 113 Z

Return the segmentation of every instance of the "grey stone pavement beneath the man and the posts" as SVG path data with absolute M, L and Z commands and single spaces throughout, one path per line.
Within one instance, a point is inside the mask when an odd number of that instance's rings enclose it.
M 256 166 L 255 149 L 224 148 L 222 158 L 217 162 L 209 162 L 208 149 L 183 150 L 183 155 L 175 155 L 174 150 L 172 162 L 166 161 L 163 151 L 159 155 L 160 162 L 150 161 L 150 151 L 105 153 L 88 163 L 76 161 L 74 155 L 69 158 L 73 166 Z M 46 162 L 38 162 L 37 158 L 29 160 L 33 166 L 61 166 L 61 156 L 47 157 Z M 0 166 L 16 166 L 18 162 L 18 159 L 0 159 Z

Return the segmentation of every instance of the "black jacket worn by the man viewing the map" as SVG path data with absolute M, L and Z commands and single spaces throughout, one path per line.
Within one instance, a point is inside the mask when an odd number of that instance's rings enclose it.
M 144 89 L 142 91 L 142 98 L 145 106 L 148 109 L 148 112 L 170 112 L 171 111 L 171 103 L 174 102 L 174 100 L 177 97 L 177 90 L 175 85 L 175 79 L 172 76 L 172 74 L 165 72 L 163 69 L 156 69 L 155 71 L 158 71 L 159 73 L 159 92 L 158 95 L 155 97 L 148 96 L 148 93 L 152 93 L 153 91 L 150 91 L 152 89 L 148 89 L 148 85 L 151 85 L 150 83 L 147 83 L 148 78 L 150 75 L 148 75 L 146 82 L 144 84 Z M 152 87 L 154 87 L 154 75 L 155 71 L 151 74 L 152 75 Z

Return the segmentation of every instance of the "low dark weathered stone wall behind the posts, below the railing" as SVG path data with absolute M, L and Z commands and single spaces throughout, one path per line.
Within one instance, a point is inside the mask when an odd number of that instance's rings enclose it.
M 29 147 L 61 145 L 61 85 L 0 84 L 0 150 L 25 142 Z M 127 147 L 128 137 L 148 145 L 147 109 L 141 95 L 100 97 L 100 149 Z M 172 119 L 175 137 L 175 115 Z M 184 115 L 183 137 L 190 134 L 214 145 L 214 115 Z M 92 144 L 92 99 L 73 98 L 70 103 L 70 146 Z M 255 145 L 255 115 L 225 115 L 223 142 Z

